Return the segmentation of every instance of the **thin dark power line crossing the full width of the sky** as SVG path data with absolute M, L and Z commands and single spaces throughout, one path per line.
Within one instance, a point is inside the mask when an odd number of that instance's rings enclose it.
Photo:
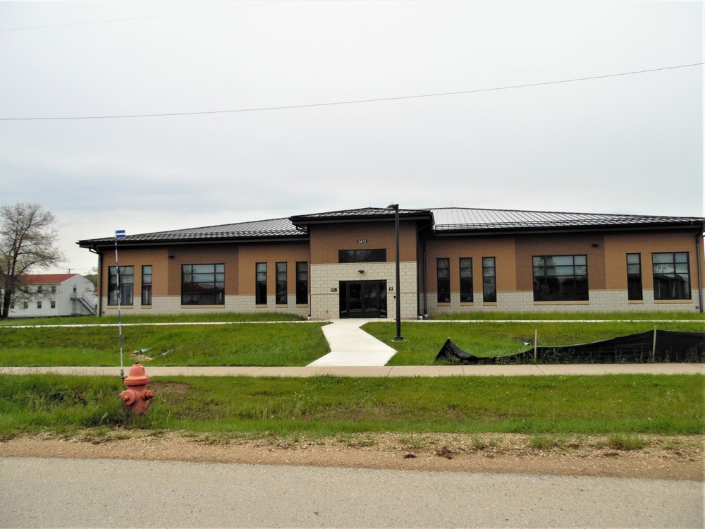
M 605 79 L 620 77 L 624 75 L 637 75 L 639 73 L 659 72 L 664 70 L 675 70 L 677 68 L 691 68 L 692 66 L 702 66 L 705 63 L 682 64 L 680 66 L 666 66 L 664 68 L 652 68 L 651 70 L 639 70 L 623 73 L 608 73 L 607 75 L 592 75 L 591 77 L 581 77 L 575 79 L 564 79 L 558 81 L 545 81 L 544 83 L 528 83 L 525 85 L 509 85 L 494 88 L 477 88 L 475 90 L 460 90 L 458 92 L 439 92 L 436 94 L 402 95 L 397 97 L 377 97 L 375 99 L 354 99 L 351 101 L 337 101 L 330 103 L 294 104 L 283 107 L 257 107 L 252 109 L 235 110 L 211 110 L 198 112 L 171 112 L 164 114 L 123 114 L 118 116 L 63 116 L 63 117 L 42 117 L 42 118 L 0 118 L 0 121 L 48 121 L 48 120 L 68 120 L 68 119 L 122 119 L 122 118 L 161 118 L 166 116 L 201 116 L 204 114 L 236 114 L 238 112 L 261 112 L 268 110 L 288 110 L 288 109 L 308 109 L 312 107 L 333 107 L 343 104 L 375 103 L 385 101 L 400 101 L 402 99 L 420 99 L 422 97 L 443 97 L 448 95 L 477 94 L 479 92 L 495 92 L 498 90 L 515 90 L 517 88 L 529 88 L 535 86 L 558 85 L 561 83 L 576 83 L 593 79 Z

